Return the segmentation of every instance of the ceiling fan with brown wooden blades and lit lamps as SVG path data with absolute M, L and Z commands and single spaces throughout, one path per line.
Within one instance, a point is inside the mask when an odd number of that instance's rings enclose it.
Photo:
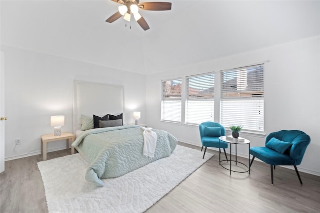
M 143 2 L 139 3 L 139 0 L 112 0 L 119 4 L 118 11 L 111 15 L 105 21 L 108 23 L 112 23 L 123 15 L 123 18 L 127 21 L 130 21 L 131 14 L 133 14 L 134 19 L 138 24 L 142 27 L 142 29 L 149 29 L 149 25 L 146 23 L 144 18 L 139 13 L 139 9 L 141 10 L 170 10 L 171 3 L 170 2 Z

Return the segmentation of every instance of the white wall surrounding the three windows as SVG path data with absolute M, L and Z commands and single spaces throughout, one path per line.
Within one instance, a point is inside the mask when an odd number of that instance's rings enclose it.
M 320 175 L 319 43 L 320 36 L 314 36 L 147 75 L 146 123 L 153 128 L 167 130 L 179 141 L 201 146 L 198 126 L 160 121 L 161 79 L 219 71 L 267 60 L 264 74 L 264 132 L 268 134 L 282 129 L 297 129 L 307 133 L 311 142 L 298 167 L 301 171 Z M 250 146 L 264 146 L 264 136 L 240 134 L 251 141 Z M 244 145 L 238 146 L 237 151 L 241 156 L 248 155 Z

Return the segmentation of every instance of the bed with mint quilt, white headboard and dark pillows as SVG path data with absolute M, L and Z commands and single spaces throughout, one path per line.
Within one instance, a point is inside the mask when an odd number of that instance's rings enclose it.
M 113 99 L 108 98 L 107 103 L 101 103 L 98 98 L 99 103 L 94 102 L 92 94 L 110 97 L 105 96 L 110 91 Z M 124 111 L 118 112 L 123 110 L 123 94 L 121 86 L 74 81 L 73 132 L 77 137 L 71 145 L 71 153 L 76 149 L 89 162 L 85 180 L 98 187 L 103 186 L 101 179 L 119 177 L 168 157 L 177 144 L 177 139 L 170 133 L 150 128 L 147 130 L 156 135 L 154 155 L 152 158 L 143 155 L 143 133 L 146 129 L 138 125 L 123 125 Z M 112 114 L 104 114 L 103 111 Z

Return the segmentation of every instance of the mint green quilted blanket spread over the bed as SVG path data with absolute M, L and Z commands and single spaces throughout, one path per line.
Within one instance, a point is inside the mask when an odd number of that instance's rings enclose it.
M 177 139 L 163 130 L 157 135 L 154 157 L 143 156 L 143 130 L 136 125 L 90 129 L 72 143 L 88 162 L 85 180 L 103 186 L 101 179 L 115 178 L 163 157 L 175 149 Z

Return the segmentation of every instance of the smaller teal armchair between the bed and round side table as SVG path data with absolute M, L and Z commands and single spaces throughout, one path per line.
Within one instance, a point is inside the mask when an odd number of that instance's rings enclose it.
M 228 148 L 228 144 L 226 142 L 220 141 L 220 146 L 219 146 L 219 139 L 218 139 L 220 136 L 225 135 L 224 127 L 219 123 L 207 121 L 199 125 L 199 131 L 200 131 L 200 138 L 201 138 L 201 144 L 202 144 L 201 152 L 202 152 L 203 146 L 205 147 L 202 159 L 204 158 L 207 147 L 215 147 L 215 148 L 219 148 L 220 153 L 221 153 L 220 148 L 223 148 L 224 155 L 227 160 L 225 148 Z

